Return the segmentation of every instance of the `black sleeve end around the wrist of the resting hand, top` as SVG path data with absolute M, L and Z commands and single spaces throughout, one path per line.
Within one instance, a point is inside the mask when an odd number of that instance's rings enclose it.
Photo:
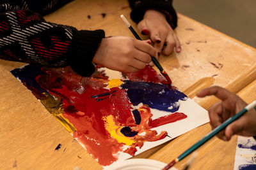
M 129 0 L 129 4 L 132 8 L 131 19 L 137 24 L 143 19 L 145 11 L 152 9 L 164 13 L 173 29 L 177 27 L 177 13 L 172 6 L 172 0 Z

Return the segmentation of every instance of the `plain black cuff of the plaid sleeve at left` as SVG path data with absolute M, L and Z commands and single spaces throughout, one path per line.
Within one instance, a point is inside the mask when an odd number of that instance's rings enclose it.
M 77 31 L 74 34 L 68 48 L 67 61 L 77 74 L 90 76 L 95 71 L 92 59 L 104 37 L 105 32 L 100 29 Z

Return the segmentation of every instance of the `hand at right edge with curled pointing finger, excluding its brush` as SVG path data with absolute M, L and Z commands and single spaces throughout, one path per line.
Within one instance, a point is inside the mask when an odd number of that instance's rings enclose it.
M 221 99 L 209 109 L 210 124 L 212 129 L 222 124 L 228 118 L 236 115 L 247 105 L 243 99 L 236 94 L 229 92 L 222 87 L 209 87 L 196 94 L 198 97 L 214 95 Z M 232 135 L 241 136 L 256 135 L 256 111 L 254 109 L 245 113 L 241 118 L 228 125 L 217 136 L 220 139 L 228 141 Z

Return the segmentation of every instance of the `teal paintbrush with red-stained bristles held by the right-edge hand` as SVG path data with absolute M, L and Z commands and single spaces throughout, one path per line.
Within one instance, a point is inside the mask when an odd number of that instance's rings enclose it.
M 213 136 L 215 136 L 216 134 L 218 134 L 218 132 L 222 131 L 223 129 L 225 129 L 225 127 L 227 127 L 227 125 L 231 124 L 232 122 L 234 122 L 235 120 L 237 120 L 237 118 L 241 117 L 244 115 L 244 113 L 246 113 L 248 110 L 252 109 L 253 107 L 256 106 L 256 101 L 253 101 L 252 103 L 248 104 L 243 110 L 241 110 L 239 113 L 237 113 L 236 115 L 234 115 L 234 117 L 230 117 L 228 118 L 228 120 L 226 120 L 225 122 L 223 122 L 223 124 L 219 125 L 218 127 L 216 127 L 215 129 L 213 129 L 211 132 L 209 132 L 209 134 L 207 134 L 204 138 L 202 138 L 200 141 L 198 141 L 197 143 L 195 143 L 195 145 L 191 146 L 188 150 L 186 150 L 184 153 L 182 153 L 181 155 L 179 155 L 179 157 L 177 157 L 176 159 L 172 160 L 172 162 L 170 162 L 167 166 L 165 166 L 162 170 L 167 170 L 170 169 L 172 166 L 174 166 L 177 162 L 179 162 L 180 160 L 184 159 L 186 156 L 188 156 L 190 153 L 192 153 L 193 151 L 195 151 L 197 148 L 199 148 L 200 146 L 202 146 L 205 142 L 209 141 L 209 139 L 211 139 Z

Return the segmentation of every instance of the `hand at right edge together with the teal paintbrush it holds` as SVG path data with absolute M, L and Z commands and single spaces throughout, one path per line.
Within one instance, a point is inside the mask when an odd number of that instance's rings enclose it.
M 209 110 L 211 125 L 216 124 L 218 120 L 222 120 L 222 118 L 217 117 L 227 117 L 227 114 L 230 117 L 225 122 L 222 122 L 221 125 L 217 126 L 213 129 L 209 134 L 207 134 L 204 138 L 200 141 L 195 143 L 195 145 L 191 146 L 188 150 L 184 153 L 179 155 L 175 160 L 172 160 L 163 170 L 170 169 L 170 167 L 174 166 L 177 162 L 187 157 L 190 153 L 194 152 L 197 148 L 204 145 L 209 139 L 213 136 L 217 135 L 223 129 L 225 129 L 225 136 L 219 136 L 221 139 L 230 139 L 230 137 L 234 134 L 241 134 L 243 136 L 256 136 L 256 101 L 245 106 L 245 108 L 241 109 L 246 103 L 236 94 L 229 92 L 226 89 L 221 87 L 209 87 L 198 92 L 198 97 L 205 97 L 214 95 L 221 99 L 220 103 L 215 104 Z M 255 108 L 255 110 L 253 110 Z M 241 111 L 239 111 L 241 110 Z M 238 112 L 239 111 L 239 112 Z M 237 113 L 238 112 L 238 113 Z M 248 112 L 246 115 L 244 113 Z M 242 117 L 243 116 L 243 117 Z M 218 122 L 220 124 L 220 122 Z M 214 126 L 213 126 L 214 127 Z M 224 138 L 225 137 L 225 138 Z

